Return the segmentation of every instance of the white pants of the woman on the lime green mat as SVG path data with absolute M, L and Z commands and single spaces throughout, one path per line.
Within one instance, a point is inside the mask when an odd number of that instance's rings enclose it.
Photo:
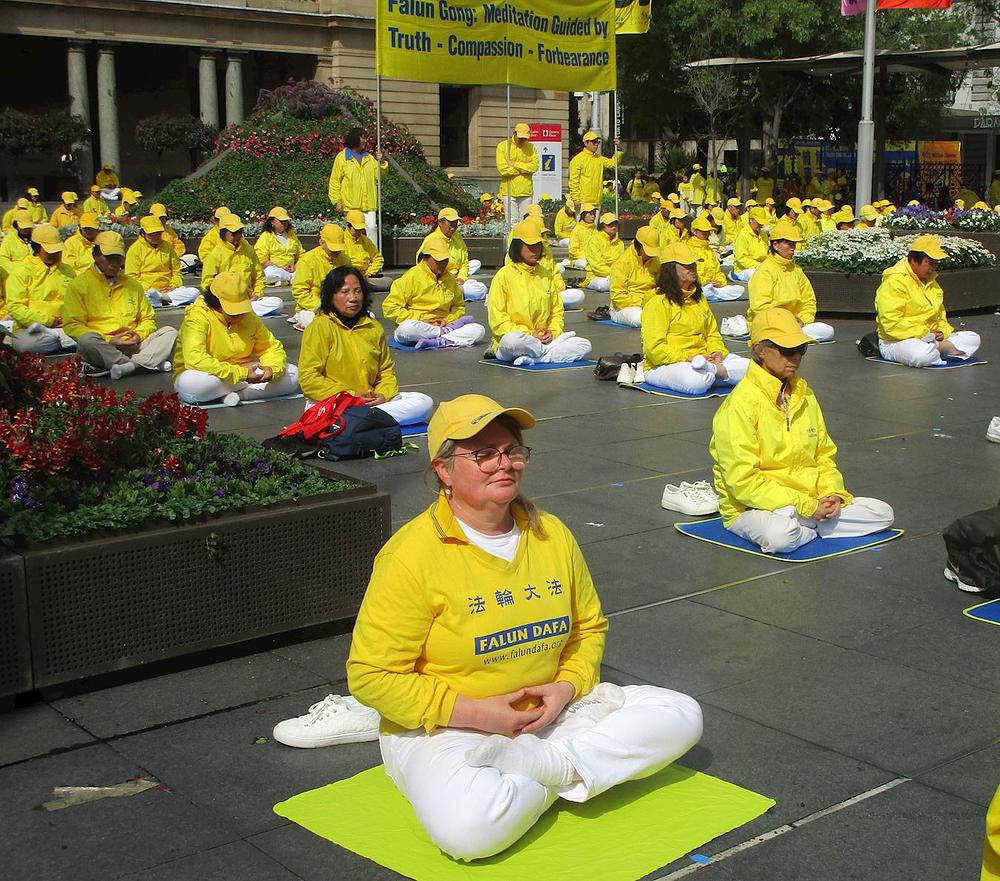
M 649 777 L 701 738 L 701 708 L 694 698 L 654 685 L 622 691 L 625 703 L 602 718 L 588 718 L 581 705 L 537 733 L 576 769 L 580 781 L 569 786 L 547 787 L 519 774 L 471 767 L 465 755 L 487 735 L 458 728 L 382 735 L 386 773 L 445 853 L 460 860 L 499 853 L 557 798 L 585 802 L 626 780 Z

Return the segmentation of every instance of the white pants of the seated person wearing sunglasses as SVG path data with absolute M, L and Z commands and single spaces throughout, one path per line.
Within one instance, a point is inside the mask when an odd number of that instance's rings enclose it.
M 794 551 L 818 535 L 820 538 L 855 538 L 871 535 L 892 526 L 892 508 L 878 499 L 856 498 L 840 509 L 832 520 L 817 523 L 800 517 L 788 505 L 777 511 L 744 511 L 732 523 L 729 531 L 759 545 L 765 554 Z

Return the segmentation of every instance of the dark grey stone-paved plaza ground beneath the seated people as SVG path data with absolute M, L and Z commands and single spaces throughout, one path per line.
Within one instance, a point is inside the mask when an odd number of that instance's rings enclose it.
M 585 308 L 606 301 L 588 294 Z M 719 305 L 716 315 L 745 305 Z M 484 304 L 469 311 L 487 323 Z M 159 319 L 177 326 L 181 315 Z M 583 548 L 611 621 L 604 678 L 696 697 L 705 734 L 682 764 L 777 801 L 700 852 L 780 834 L 701 868 L 678 860 L 650 878 L 978 877 L 986 806 L 1000 781 L 1000 631 L 962 615 L 975 597 L 942 577 L 941 532 L 1000 495 L 1000 446 L 984 436 L 1000 412 L 1000 316 L 954 323 L 963 322 L 982 335 L 979 354 L 991 364 L 869 363 L 854 341 L 873 322 L 843 319 L 832 319 L 836 343 L 806 355 L 802 375 L 840 448 L 847 488 L 889 502 L 906 534 L 801 565 L 684 538 L 673 524 L 691 518 L 660 507 L 665 483 L 710 479 L 718 399 L 645 395 L 597 382 L 588 369 L 504 370 L 479 363 L 482 346 L 394 353 L 404 390 L 436 401 L 477 391 L 535 414 L 525 489 Z M 295 361 L 301 335 L 284 318 L 268 326 Z M 589 337 L 595 355 L 640 348 L 637 330 L 597 325 L 585 312 L 568 314 L 566 327 Z M 169 390 L 170 380 L 146 375 L 120 386 L 148 394 Z M 215 409 L 209 424 L 261 439 L 301 408 L 286 400 Z M 431 501 L 426 440 L 418 444 L 412 455 L 324 467 L 389 493 L 398 528 Z M 271 810 L 380 762 L 374 743 L 296 750 L 270 740 L 275 722 L 346 689 L 349 645 L 341 634 L 277 646 L 0 715 L 0 877 L 399 877 Z M 40 809 L 53 787 L 135 775 L 162 787 Z M 577 877 L 591 877 L 585 865 Z

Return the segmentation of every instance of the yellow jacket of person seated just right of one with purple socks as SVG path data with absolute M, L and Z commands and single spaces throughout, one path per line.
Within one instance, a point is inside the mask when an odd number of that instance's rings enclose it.
M 542 266 L 510 263 L 500 267 L 490 283 L 486 311 L 494 344 L 512 331 L 548 330 L 553 338 L 563 332 L 562 297 L 550 270 Z

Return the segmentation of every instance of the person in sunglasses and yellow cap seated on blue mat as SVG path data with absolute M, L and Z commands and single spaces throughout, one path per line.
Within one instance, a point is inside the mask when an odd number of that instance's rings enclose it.
M 716 412 L 709 445 L 726 528 L 768 554 L 888 529 L 889 505 L 844 488 L 823 413 L 798 376 L 814 341 L 780 308 L 754 316 L 750 340 L 753 363 Z

